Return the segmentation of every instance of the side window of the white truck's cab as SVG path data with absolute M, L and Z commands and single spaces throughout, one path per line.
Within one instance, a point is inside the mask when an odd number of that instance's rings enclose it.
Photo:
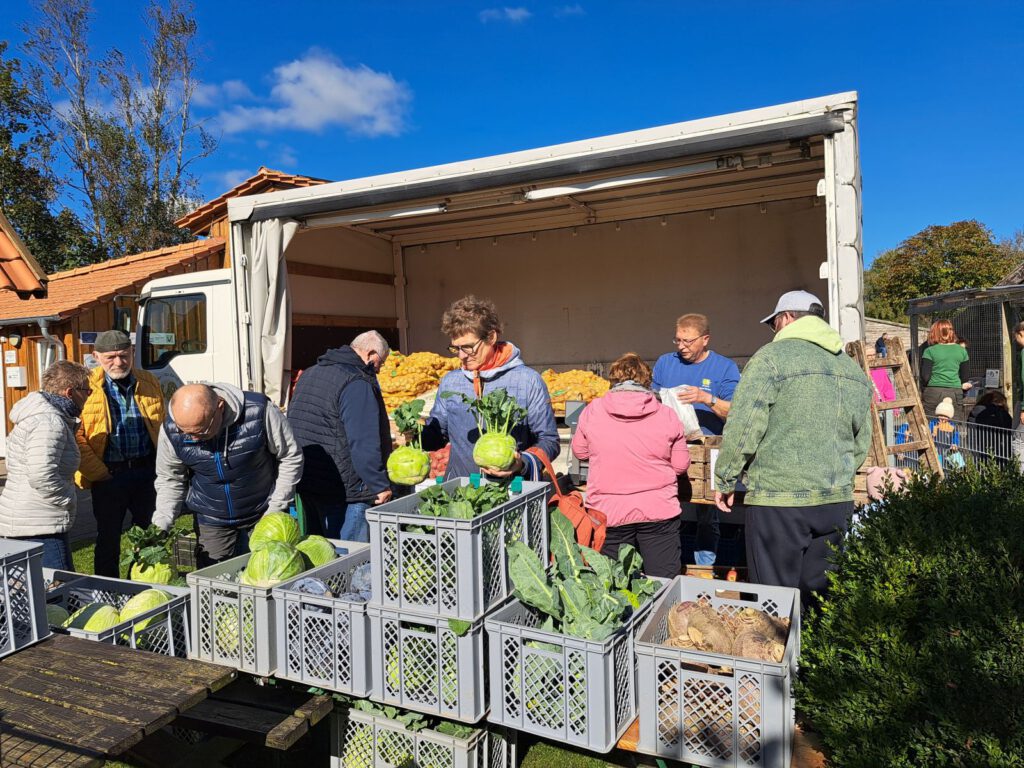
M 153 299 L 145 304 L 142 365 L 163 368 L 179 354 L 202 354 L 207 347 L 206 296 Z

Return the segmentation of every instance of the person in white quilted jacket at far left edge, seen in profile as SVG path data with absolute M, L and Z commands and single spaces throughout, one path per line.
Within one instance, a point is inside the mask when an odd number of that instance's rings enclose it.
M 68 530 L 75 521 L 75 440 L 89 396 L 84 366 L 57 360 L 43 373 L 42 389 L 10 411 L 7 484 L 0 494 L 0 536 L 43 545 L 43 567 L 71 568 Z

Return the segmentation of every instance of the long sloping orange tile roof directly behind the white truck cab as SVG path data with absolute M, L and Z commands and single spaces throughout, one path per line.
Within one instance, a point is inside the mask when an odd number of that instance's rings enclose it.
M 198 259 L 223 250 L 223 238 L 208 238 L 56 272 L 50 275 L 49 290 L 44 299 L 24 301 L 10 292 L 0 292 L 0 319 L 68 317 L 94 304 L 110 301 L 119 293 L 136 293 L 154 278 L 196 271 Z

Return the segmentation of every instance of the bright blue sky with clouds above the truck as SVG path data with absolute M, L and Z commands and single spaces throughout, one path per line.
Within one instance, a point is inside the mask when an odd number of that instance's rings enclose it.
M 95 48 L 137 55 L 143 5 L 95 0 Z M 857 90 L 867 260 L 1024 228 L 1024 3 L 197 5 L 208 198 L 260 165 L 341 180 Z

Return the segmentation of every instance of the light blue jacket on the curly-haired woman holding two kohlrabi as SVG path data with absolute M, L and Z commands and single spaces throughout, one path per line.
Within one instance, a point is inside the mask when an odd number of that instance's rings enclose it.
M 510 342 L 506 342 L 507 344 Z M 523 364 L 519 348 L 512 345 L 512 355 L 507 362 L 480 371 L 483 394 L 496 389 L 505 389 L 516 401 L 526 409 L 526 421 L 512 430 L 516 450 L 520 453 L 537 446 L 548 455 L 551 461 L 558 456 L 558 427 L 555 412 L 551 409 L 551 396 L 544 379 L 531 368 Z M 473 446 L 480 437 L 476 417 L 461 397 L 445 397 L 445 392 L 460 392 L 475 398 L 473 391 L 473 371 L 450 371 L 437 387 L 437 399 L 430 411 L 423 430 L 423 449 L 435 451 L 451 443 L 445 478 L 467 477 L 480 468 L 473 461 Z M 301 380 L 300 380 L 301 381 Z

